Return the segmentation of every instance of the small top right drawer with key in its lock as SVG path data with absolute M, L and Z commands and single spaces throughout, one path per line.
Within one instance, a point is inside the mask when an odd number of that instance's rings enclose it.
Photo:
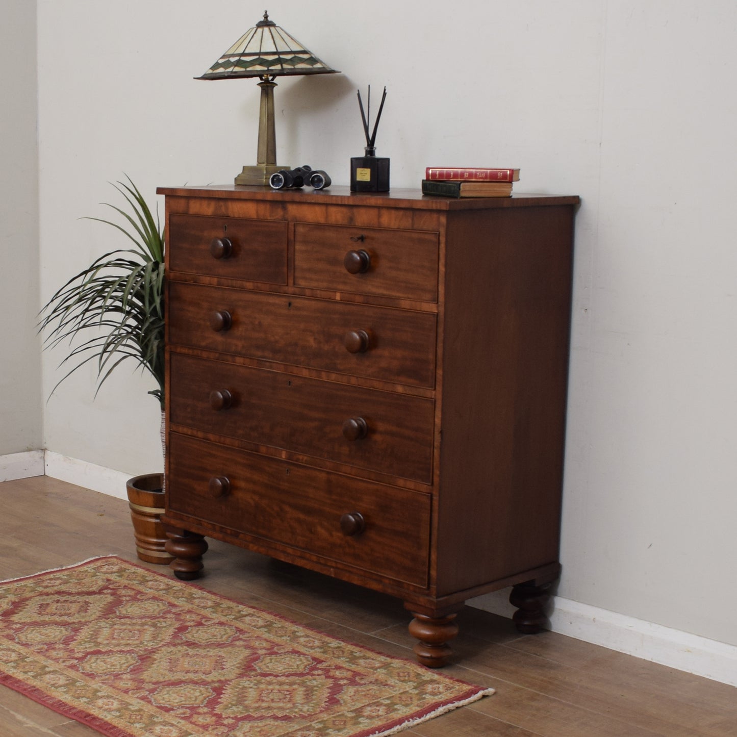
M 438 301 L 438 234 L 296 223 L 294 283 Z

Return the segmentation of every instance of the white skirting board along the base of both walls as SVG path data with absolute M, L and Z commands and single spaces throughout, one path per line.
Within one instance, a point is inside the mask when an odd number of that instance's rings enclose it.
M 25 470 L 24 470 L 25 469 Z M 0 481 L 41 476 L 74 483 L 113 497 L 125 499 L 125 482 L 120 471 L 69 458 L 46 450 L 0 456 Z M 478 596 L 472 607 L 510 617 L 514 612 L 509 590 Z M 737 685 L 737 647 L 690 635 L 678 629 L 628 617 L 578 601 L 553 597 L 551 629 L 562 635 L 601 645 L 663 666 L 677 668 L 715 681 Z

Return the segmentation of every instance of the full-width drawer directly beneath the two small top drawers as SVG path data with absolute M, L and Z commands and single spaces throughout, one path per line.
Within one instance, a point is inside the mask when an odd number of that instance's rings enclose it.
M 170 282 L 172 344 L 433 388 L 436 315 Z

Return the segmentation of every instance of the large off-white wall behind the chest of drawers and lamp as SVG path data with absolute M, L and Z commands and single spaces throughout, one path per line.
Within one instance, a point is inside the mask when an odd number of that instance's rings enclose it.
M 103 212 L 106 181 L 128 172 L 153 199 L 255 163 L 255 81 L 192 77 L 263 8 L 38 0 L 44 297 L 118 242 L 77 220 Z M 279 83 L 279 163 L 347 184 L 363 150 L 355 91 L 371 83 L 388 88 L 377 145 L 393 186 L 419 186 L 429 164 L 489 164 L 520 167 L 519 191 L 581 195 L 559 594 L 737 645 L 737 6 L 268 10 L 343 71 Z M 44 355 L 44 394 L 56 359 Z M 57 389 L 46 447 L 130 473 L 160 465 L 151 382 L 115 377 L 93 402 L 93 380 Z

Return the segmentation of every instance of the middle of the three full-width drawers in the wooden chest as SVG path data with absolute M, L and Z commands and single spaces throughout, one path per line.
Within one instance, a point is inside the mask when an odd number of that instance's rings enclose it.
M 170 353 L 170 422 L 432 481 L 432 399 Z

